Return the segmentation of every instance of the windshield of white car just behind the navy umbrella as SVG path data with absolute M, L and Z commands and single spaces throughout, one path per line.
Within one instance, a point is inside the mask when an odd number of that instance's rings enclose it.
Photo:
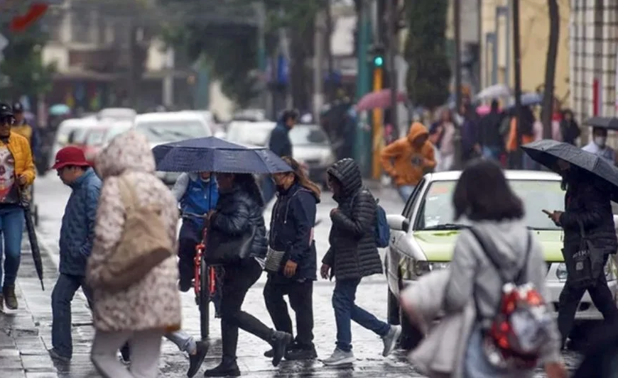
M 146 135 L 151 143 L 176 142 L 178 140 L 210 136 L 208 128 L 197 121 L 148 121 L 139 122 L 135 129 Z

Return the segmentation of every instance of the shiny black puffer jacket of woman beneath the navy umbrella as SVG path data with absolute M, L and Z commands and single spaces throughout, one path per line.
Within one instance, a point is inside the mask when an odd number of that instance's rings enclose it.
M 266 257 L 266 227 L 262 210 L 264 201 L 257 187 L 234 187 L 227 193 L 219 192 L 215 215 L 210 226 L 234 237 L 242 235 L 250 226 L 257 226 L 251 245 L 251 257 Z

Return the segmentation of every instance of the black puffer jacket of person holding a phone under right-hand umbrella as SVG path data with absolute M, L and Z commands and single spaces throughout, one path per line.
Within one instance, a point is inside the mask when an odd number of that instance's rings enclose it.
M 565 212 L 560 216 L 564 229 L 565 253 L 578 252 L 581 243 L 579 222 L 592 245 L 605 254 L 615 254 L 618 248 L 614 216 L 609 191 L 590 174 L 578 174 L 571 179 L 565 195 Z

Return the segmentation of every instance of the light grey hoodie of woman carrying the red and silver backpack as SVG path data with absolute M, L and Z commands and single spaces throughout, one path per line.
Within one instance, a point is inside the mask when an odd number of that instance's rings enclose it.
M 526 225 L 521 221 L 483 221 L 472 223 L 472 226 L 486 238 L 491 238 L 496 245 L 506 277 L 516 277 L 524 267 L 528 234 L 532 235 Z M 530 245 L 531 250 L 522 278 L 525 282 L 534 284 L 536 289 L 548 298 L 545 286 L 547 266 L 541 245 L 535 238 L 532 238 Z M 462 311 L 474 294 L 482 316 L 493 318 L 502 296 L 502 280 L 470 230 L 463 230 L 457 238 L 450 269 L 443 305 L 445 311 Z M 551 342 L 543 348 L 543 362 L 557 361 L 560 361 L 560 333 L 553 323 Z

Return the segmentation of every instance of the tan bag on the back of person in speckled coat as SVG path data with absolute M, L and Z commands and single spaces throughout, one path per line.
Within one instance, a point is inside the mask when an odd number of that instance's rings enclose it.
M 112 293 L 128 289 L 175 255 L 174 240 L 163 222 L 161 206 L 140 206 L 126 177 L 119 177 L 119 187 L 126 213 L 124 229 L 116 249 L 102 267 L 100 282 L 95 285 Z

